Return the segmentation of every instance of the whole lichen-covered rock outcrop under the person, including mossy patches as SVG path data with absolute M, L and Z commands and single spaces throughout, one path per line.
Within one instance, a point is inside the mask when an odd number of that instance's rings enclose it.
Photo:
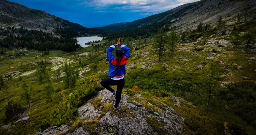
M 175 115 L 176 111 L 173 108 L 166 107 L 156 112 L 138 103 L 142 100 L 144 98 L 138 93 L 133 98 L 122 94 L 118 112 L 114 112 L 112 110 L 115 97 L 110 91 L 104 89 L 78 109 L 78 119 L 82 121 L 99 119 L 96 128 L 98 134 L 157 135 L 162 132 L 175 135 L 183 133 L 184 118 Z M 152 105 L 147 101 L 146 104 Z M 50 127 L 38 135 L 89 134 L 84 131 L 86 129 L 79 126 L 72 133 L 69 133 L 68 128 L 67 125 Z

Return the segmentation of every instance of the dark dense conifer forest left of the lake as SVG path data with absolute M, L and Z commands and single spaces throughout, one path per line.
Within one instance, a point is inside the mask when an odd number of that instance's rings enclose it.
M 4 40 L 0 40 L 0 47 L 9 49 L 28 48 L 38 51 L 49 49 L 69 52 L 80 48 L 80 45 L 74 38 L 59 38 L 52 33 L 43 32 L 41 30 L 8 27 L 6 30 L 0 28 L 0 35 L 6 36 Z

